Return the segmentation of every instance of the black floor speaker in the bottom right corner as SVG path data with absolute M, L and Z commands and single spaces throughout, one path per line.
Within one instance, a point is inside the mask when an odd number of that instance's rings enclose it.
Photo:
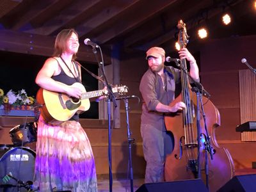
M 256 191 L 256 174 L 237 175 L 230 179 L 218 192 L 250 192 Z

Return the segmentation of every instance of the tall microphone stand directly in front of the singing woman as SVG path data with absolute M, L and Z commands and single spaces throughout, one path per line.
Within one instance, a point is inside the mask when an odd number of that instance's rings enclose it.
M 104 79 L 104 84 L 107 87 L 108 90 L 108 161 L 109 161 L 109 191 L 112 192 L 113 188 L 113 175 L 112 175 L 112 152 L 111 152 L 111 101 L 113 102 L 114 107 L 116 108 L 116 99 L 115 95 L 112 92 L 111 85 L 108 83 L 108 79 L 106 78 L 105 75 L 105 70 L 104 70 L 104 61 L 103 61 L 103 56 L 102 56 L 102 51 L 100 49 L 99 45 L 92 46 L 93 47 L 93 54 L 95 54 L 95 58 L 98 62 L 100 72 L 102 72 L 102 77 Z M 101 61 L 97 57 L 97 50 L 98 48 L 100 50 L 100 56 L 101 56 Z

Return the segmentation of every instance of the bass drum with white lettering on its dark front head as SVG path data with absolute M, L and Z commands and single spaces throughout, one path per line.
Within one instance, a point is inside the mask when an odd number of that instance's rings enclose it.
M 3 151 L 2 151 L 3 152 Z M 18 182 L 32 181 L 34 177 L 36 153 L 26 147 L 11 148 L 0 157 L 0 191 L 17 191 Z M 7 175 L 12 175 L 13 178 Z M 19 187 L 20 192 L 27 189 Z

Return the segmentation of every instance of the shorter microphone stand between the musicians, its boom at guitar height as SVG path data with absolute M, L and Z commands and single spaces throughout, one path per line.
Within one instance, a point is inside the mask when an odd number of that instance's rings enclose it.
M 131 95 L 131 96 L 126 96 L 126 97 L 118 97 L 116 98 L 116 100 L 124 100 L 124 104 L 125 104 L 125 113 L 126 113 L 126 124 L 127 124 L 127 140 L 128 140 L 128 147 L 129 147 L 129 168 L 130 168 L 130 186 L 131 186 L 131 192 L 133 192 L 133 170 L 132 170 L 132 144 L 134 144 L 135 139 L 131 138 L 131 130 L 130 130 L 130 125 L 129 125 L 129 106 L 128 106 L 128 99 L 132 99 L 132 98 L 137 98 L 139 99 L 140 102 L 140 98 L 138 98 L 135 95 Z

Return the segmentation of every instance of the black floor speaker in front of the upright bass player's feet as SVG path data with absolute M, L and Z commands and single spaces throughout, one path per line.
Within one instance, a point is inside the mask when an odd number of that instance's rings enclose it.
M 208 192 L 204 182 L 201 179 L 177 180 L 173 182 L 156 182 L 143 184 L 136 192 Z

